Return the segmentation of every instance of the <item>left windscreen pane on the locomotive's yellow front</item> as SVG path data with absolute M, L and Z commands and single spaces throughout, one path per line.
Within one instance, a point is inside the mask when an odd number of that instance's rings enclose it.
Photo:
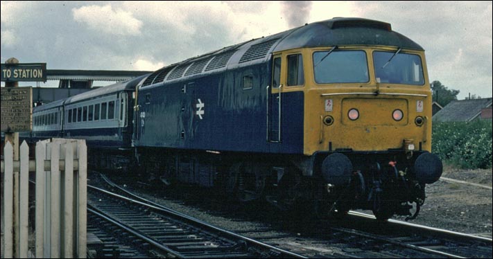
M 313 72 L 318 84 L 368 82 L 365 51 L 317 51 Z

